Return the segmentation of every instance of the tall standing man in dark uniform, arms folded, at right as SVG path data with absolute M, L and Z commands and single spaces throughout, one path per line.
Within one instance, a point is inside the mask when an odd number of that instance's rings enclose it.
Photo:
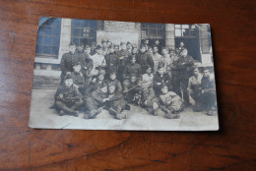
M 177 60 L 178 69 L 178 83 L 181 89 L 181 97 L 184 100 L 185 105 L 189 104 L 187 86 L 188 80 L 192 75 L 192 66 L 194 66 L 194 60 L 187 54 L 187 49 L 183 49 L 180 52 L 180 57 Z

